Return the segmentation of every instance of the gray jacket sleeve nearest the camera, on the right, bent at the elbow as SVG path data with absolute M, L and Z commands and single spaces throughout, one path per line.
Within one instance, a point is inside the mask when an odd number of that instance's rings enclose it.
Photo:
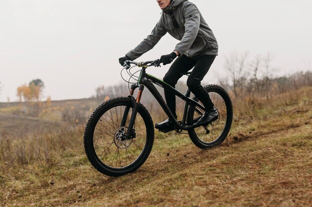
M 180 56 L 182 56 L 195 41 L 200 25 L 200 14 L 194 4 L 186 4 L 183 8 L 183 15 L 185 18 L 185 32 L 181 41 L 175 46 L 174 49 L 174 51 L 179 52 Z

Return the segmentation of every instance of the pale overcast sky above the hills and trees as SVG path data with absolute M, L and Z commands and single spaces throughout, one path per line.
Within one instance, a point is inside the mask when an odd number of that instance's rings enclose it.
M 233 51 L 270 52 L 282 74 L 312 67 L 311 0 L 191 2 L 219 44 L 204 82 L 216 83 Z M 99 85 L 119 83 L 118 58 L 151 33 L 160 12 L 156 0 L 0 0 L 0 101 L 16 101 L 16 88 L 36 78 L 52 100 L 90 97 Z M 167 34 L 138 61 L 169 54 L 176 44 Z M 148 72 L 162 78 L 168 68 Z

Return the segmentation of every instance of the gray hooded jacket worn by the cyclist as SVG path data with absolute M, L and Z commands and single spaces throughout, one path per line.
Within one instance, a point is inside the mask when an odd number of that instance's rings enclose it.
M 172 0 L 170 6 L 162 11 L 152 33 L 126 55 L 131 60 L 139 58 L 167 32 L 180 40 L 173 50 L 179 52 L 180 56 L 196 59 L 202 55 L 218 55 L 216 38 L 196 5 L 188 0 Z

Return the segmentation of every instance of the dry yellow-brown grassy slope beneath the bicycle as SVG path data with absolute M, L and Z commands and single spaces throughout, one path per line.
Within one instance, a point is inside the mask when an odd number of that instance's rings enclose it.
M 82 125 L 1 137 L 0 206 L 310 207 L 312 88 L 249 101 L 233 100 L 219 147 L 156 132 L 146 163 L 119 178 L 91 167 Z

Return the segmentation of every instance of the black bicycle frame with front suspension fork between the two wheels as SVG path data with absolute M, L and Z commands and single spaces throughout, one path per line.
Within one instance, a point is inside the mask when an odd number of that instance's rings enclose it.
M 132 103 L 133 110 L 132 110 L 132 114 L 131 114 L 131 118 L 130 118 L 130 122 L 129 122 L 129 126 L 128 126 L 127 136 L 130 137 L 133 134 L 132 129 L 133 129 L 133 126 L 135 123 L 135 118 L 136 118 L 137 112 L 138 112 L 137 106 L 138 106 L 138 103 L 140 103 L 141 95 L 142 95 L 142 92 L 144 90 L 144 87 L 147 87 L 149 89 L 149 91 L 153 94 L 153 96 L 156 98 L 157 102 L 159 103 L 159 105 L 163 109 L 163 111 L 166 113 L 166 115 L 173 122 L 173 124 L 175 125 L 175 127 L 177 129 L 190 130 L 190 129 L 194 128 L 193 125 L 186 125 L 185 124 L 186 118 L 187 118 L 186 117 L 187 116 L 187 109 L 188 109 L 189 104 L 194 104 L 202 110 L 205 110 L 205 108 L 201 104 L 199 104 L 198 102 L 196 102 L 195 100 L 193 100 L 189 97 L 190 93 L 191 93 L 189 89 L 187 89 L 187 91 L 185 92 L 185 95 L 183 95 L 182 93 L 177 91 L 175 88 L 171 87 L 169 84 L 159 80 L 158 78 L 154 77 L 153 75 L 146 73 L 146 68 L 147 67 L 143 67 L 143 69 L 141 70 L 141 73 L 140 73 L 140 76 L 138 79 L 138 83 L 133 84 L 131 86 L 129 97 L 132 97 L 132 100 L 133 100 L 133 103 Z M 175 94 L 175 96 L 178 96 L 179 98 L 181 98 L 182 100 L 185 101 L 183 119 L 181 121 L 181 124 L 174 118 L 174 116 L 171 113 L 171 111 L 169 110 L 166 102 L 163 100 L 162 96 L 160 95 L 160 93 L 158 92 L 158 90 L 156 89 L 156 87 L 154 86 L 153 83 L 165 88 L 166 90 L 172 91 Z M 137 99 L 135 99 L 133 97 L 133 94 L 134 94 L 134 91 L 136 88 L 139 88 Z M 201 112 L 199 110 L 196 110 L 196 111 L 199 114 L 201 114 Z M 129 113 L 129 108 L 127 107 L 125 109 L 125 113 L 123 116 L 122 126 L 125 126 L 125 124 L 126 124 L 126 119 L 128 117 L 128 113 Z

